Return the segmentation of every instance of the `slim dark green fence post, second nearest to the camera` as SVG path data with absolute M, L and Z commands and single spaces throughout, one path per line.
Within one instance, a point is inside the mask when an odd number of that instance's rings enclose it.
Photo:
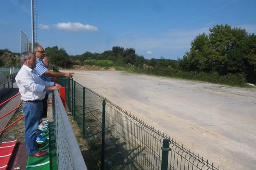
M 102 100 L 102 138 L 101 138 L 101 170 L 105 168 L 105 114 L 106 101 Z

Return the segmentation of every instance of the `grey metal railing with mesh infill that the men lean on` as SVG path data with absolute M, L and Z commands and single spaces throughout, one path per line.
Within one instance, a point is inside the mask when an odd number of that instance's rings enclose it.
M 55 127 L 59 170 L 87 170 L 78 143 L 58 91 L 53 93 L 53 124 Z

